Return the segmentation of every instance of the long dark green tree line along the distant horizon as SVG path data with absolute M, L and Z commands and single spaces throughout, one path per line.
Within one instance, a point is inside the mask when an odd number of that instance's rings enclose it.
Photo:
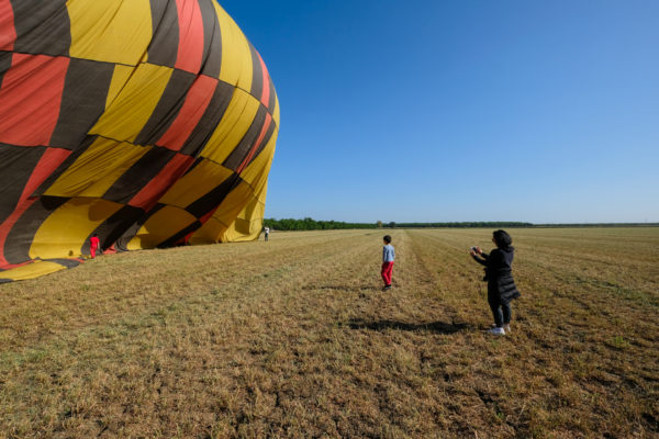
M 310 217 L 265 218 L 264 227 L 272 230 L 338 230 L 349 228 L 529 228 L 529 227 L 656 227 L 659 223 L 590 223 L 590 224 L 533 224 L 514 221 L 450 222 L 450 223 L 346 223 L 343 221 L 316 221 Z

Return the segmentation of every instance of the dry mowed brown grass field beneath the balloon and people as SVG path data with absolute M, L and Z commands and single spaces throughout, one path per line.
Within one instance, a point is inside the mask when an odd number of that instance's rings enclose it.
M 0 438 L 656 438 L 659 228 L 272 233 L 0 285 Z M 382 235 L 396 249 L 380 290 Z

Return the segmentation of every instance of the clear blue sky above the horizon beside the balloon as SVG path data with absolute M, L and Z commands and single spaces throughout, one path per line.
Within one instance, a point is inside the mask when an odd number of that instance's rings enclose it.
M 659 222 L 659 1 L 220 0 L 281 103 L 267 217 Z

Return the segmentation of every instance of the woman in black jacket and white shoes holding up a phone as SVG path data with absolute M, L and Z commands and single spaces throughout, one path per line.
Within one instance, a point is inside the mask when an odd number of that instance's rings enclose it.
M 515 249 L 512 246 L 513 238 L 504 230 L 494 232 L 492 241 L 496 248 L 490 255 L 484 254 L 480 247 L 472 247 L 469 254 L 478 263 L 485 266 L 483 280 L 488 281 L 488 303 L 495 325 L 490 333 L 503 336 L 511 330 L 511 301 L 520 297 L 511 268 Z

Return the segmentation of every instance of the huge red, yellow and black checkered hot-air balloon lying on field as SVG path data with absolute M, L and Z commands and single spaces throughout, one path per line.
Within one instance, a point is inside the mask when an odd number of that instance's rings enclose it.
M 278 130 L 215 0 L 0 0 L 0 282 L 257 238 Z

